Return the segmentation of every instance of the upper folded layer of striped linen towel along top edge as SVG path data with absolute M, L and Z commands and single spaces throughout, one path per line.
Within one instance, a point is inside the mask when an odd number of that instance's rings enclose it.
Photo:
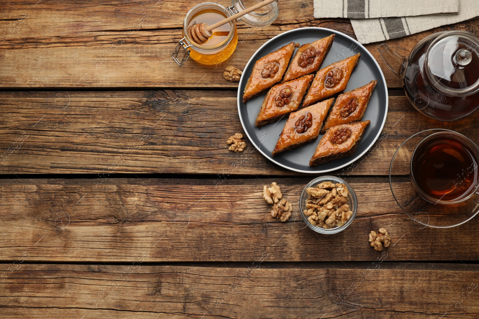
M 427 14 L 452 14 L 459 0 L 314 0 L 314 17 L 369 19 L 409 17 Z

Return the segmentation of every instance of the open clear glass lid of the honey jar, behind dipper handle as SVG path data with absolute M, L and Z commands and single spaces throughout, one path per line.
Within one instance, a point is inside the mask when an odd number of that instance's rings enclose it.
M 232 14 L 239 11 L 243 11 L 246 8 L 250 8 L 255 4 L 261 2 L 260 0 L 231 0 Z M 274 1 L 265 5 L 264 7 L 257 9 L 238 18 L 237 21 L 242 21 L 249 27 L 265 27 L 270 25 L 276 20 L 279 13 L 278 2 Z

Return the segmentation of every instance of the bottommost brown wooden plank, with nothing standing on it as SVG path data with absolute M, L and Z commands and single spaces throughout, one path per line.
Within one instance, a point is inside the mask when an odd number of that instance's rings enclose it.
M 373 266 L 374 264 L 374 266 Z M 10 271 L 11 267 L 17 270 Z M 374 267 L 374 268 L 373 268 Z M 418 269 L 419 268 L 419 269 Z M 473 319 L 477 265 L 2 264 L 2 318 Z M 444 289 L 447 287 L 447 289 Z

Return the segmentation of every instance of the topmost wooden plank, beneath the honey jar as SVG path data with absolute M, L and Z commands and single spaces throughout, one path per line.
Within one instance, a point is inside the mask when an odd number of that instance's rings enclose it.
M 315 20 L 312 0 L 289 0 L 280 3 L 274 24 L 261 31 L 239 24 L 239 46 L 227 61 L 217 66 L 187 61 L 180 68 L 171 53 L 182 38 L 184 15 L 198 1 L 2 2 L 0 87 L 4 88 L 237 88 L 221 76 L 225 66 L 244 67 L 264 42 L 279 33 L 319 26 L 354 36 L 348 20 Z M 387 43 L 407 54 L 428 34 L 474 31 L 478 23 L 477 19 L 457 23 Z M 388 86 L 402 87 L 377 54 L 376 45 L 366 47 L 383 68 Z

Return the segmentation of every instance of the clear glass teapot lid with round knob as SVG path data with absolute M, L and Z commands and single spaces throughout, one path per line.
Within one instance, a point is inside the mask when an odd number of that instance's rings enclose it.
M 479 38 L 466 31 L 439 35 L 426 52 L 426 73 L 439 91 L 467 96 L 479 91 Z

